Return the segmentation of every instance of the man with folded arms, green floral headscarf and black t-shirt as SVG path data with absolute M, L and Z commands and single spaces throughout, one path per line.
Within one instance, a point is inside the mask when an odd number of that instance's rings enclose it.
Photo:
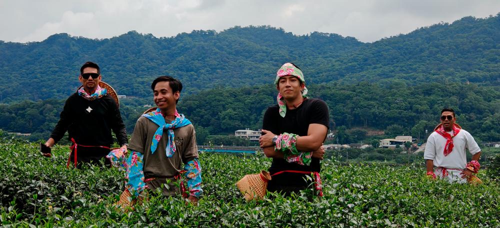
M 267 190 L 286 195 L 306 189 L 314 180 L 314 190 L 322 196 L 319 160 L 323 159 L 322 143 L 328 131 L 326 103 L 307 98 L 302 70 L 293 63 L 283 64 L 274 80 L 277 105 L 267 108 L 262 123 L 259 145 L 272 158 L 272 176 Z

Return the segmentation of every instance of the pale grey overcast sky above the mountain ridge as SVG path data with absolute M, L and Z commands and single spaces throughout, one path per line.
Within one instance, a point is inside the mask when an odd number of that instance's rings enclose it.
M 0 40 L 42 41 L 62 32 L 110 38 L 130 30 L 161 37 L 271 25 L 373 42 L 499 11 L 500 0 L 0 0 Z

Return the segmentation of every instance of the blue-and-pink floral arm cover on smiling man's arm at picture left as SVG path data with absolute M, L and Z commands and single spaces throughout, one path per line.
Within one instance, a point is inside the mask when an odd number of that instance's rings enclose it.
M 140 152 L 130 150 L 128 157 L 125 157 L 123 149 L 116 149 L 106 156 L 111 161 L 111 165 L 120 171 L 125 171 L 125 188 L 133 196 L 138 196 L 147 188 L 144 183 L 143 155 Z

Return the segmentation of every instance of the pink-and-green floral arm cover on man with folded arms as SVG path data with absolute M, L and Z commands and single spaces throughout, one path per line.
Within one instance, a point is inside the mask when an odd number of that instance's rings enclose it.
M 289 163 L 297 163 L 299 165 L 310 165 L 312 152 L 300 152 L 295 147 L 298 135 L 291 133 L 283 133 L 278 135 L 274 142 L 274 150 L 283 153 L 283 158 Z

